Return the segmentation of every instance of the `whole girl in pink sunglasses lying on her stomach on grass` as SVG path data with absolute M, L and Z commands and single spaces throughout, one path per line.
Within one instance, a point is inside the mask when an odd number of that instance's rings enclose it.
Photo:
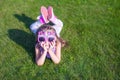
M 52 26 L 50 25 L 52 23 Z M 63 23 L 54 16 L 53 8 L 41 7 L 39 20 L 30 26 L 36 34 L 36 64 L 42 66 L 46 58 L 50 58 L 55 64 L 61 60 L 61 46 L 64 41 L 60 38 Z

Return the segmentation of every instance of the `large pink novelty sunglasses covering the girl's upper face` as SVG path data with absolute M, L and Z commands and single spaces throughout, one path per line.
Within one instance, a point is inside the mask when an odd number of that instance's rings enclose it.
M 46 30 L 38 32 L 38 42 L 53 42 L 56 41 L 55 31 Z

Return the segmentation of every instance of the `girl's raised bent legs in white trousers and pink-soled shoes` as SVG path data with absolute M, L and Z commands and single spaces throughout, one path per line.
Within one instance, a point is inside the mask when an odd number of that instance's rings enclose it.
M 41 15 L 37 17 L 37 21 L 30 25 L 31 31 L 36 34 L 38 28 L 43 24 L 52 24 L 53 28 L 56 30 L 58 37 L 60 37 L 60 32 L 63 27 L 63 22 L 58 19 L 54 13 L 51 6 L 48 9 L 44 6 L 41 7 Z

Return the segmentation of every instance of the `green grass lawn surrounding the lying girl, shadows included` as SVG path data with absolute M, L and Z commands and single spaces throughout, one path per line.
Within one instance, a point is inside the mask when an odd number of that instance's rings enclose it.
M 34 35 L 29 25 L 40 6 L 52 5 L 64 23 L 61 37 L 69 46 L 55 65 L 34 60 Z M 1 0 L 1 80 L 119 80 L 119 0 Z

